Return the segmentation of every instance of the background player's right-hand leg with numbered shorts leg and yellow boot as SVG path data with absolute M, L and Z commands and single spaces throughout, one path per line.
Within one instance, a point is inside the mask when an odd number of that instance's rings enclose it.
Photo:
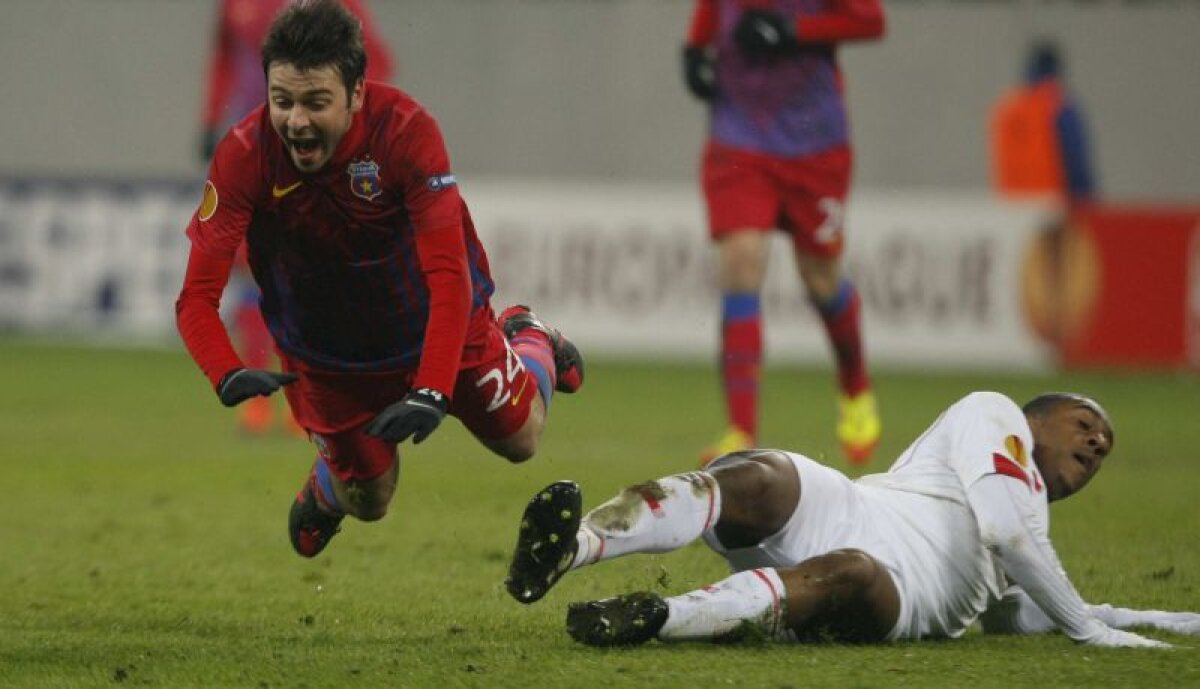
M 838 366 L 838 441 L 852 463 L 864 465 L 878 444 L 881 425 L 863 353 L 862 300 L 841 269 L 850 172 L 846 148 L 794 163 L 785 224 L 792 233 L 800 281 Z

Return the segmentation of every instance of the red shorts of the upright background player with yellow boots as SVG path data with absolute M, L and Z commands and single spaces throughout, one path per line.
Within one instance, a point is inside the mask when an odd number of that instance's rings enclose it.
M 709 234 L 778 228 L 804 253 L 841 254 L 852 158 L 846 145 L 780 158 L 709 140 L 701 170 Z

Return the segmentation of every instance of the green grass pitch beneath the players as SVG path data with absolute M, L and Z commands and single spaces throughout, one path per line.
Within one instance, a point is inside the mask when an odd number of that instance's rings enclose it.
M 1061 635 L 886 647 L 652 643 L 596 651 L 568 601 L 683 592 L 726 575 L 695 544 L 569 576 L 523 607 L 503 588 L 526 499 L 571 478 L 590 508 L 695 466 L 718 431 L 702 365 L 589 363 L 554 400 L 544 445 L 510 466 L 448 421 L 403 448 L 378 523 L 347 522 L 316 561 L 286 514 L 312 460 L 286 435 L 244 438 L 181 351 L 0 340 L 0 685 L 4 687 L 1200 687 L 1200 639 L 1109 651 Z M 1200 611 L 1200 382 L 1134 373 L 875 376 L 882 471 L 973 389 L 1094 395 L 1116 449 L 1051 509 L 1084 597 Z M 772 369 L 763 443 L 846 468 L 827 370 Z

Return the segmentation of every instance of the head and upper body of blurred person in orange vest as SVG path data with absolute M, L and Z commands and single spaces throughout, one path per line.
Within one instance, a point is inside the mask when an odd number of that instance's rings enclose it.
M 1008 198 L 1040 198 L 1064 209 L 1096 197 L 1082 112 L 1067 89 L 1057 44 L 1033 44 L 1024 82 L 991 115 L 992 180 Z

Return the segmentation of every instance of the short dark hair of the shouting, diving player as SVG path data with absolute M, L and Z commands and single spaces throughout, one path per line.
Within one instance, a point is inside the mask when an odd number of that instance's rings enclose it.
M 299 0 L 271 23 L 263 41 L 263 73 L 275 62 L 306 71 L 332 65 L 346 92 L 366 74 L 362 23 L 340 0 Z

